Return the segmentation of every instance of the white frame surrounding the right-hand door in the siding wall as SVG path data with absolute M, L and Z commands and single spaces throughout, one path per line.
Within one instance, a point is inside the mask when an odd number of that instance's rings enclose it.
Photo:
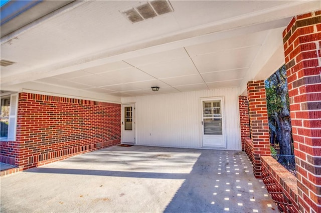
M 213 97 L 201 97 L 201 138 L 202 138 L 202 147 L 204 148 L 214 148 L 214 149 L 226 149 L 227 148 L 227 141 L 226 141 L 226 121 L 225 121 L 225 100 L 224 96 L 213 96 Z M 207 146 L 204 145 L 204 123 L 203 123 L 203 101 L 206 100 L 221 100 L 221 113 L 222 113 L 222 135 L 224 140 L 224 147 L 215 147 L 215 146 Z

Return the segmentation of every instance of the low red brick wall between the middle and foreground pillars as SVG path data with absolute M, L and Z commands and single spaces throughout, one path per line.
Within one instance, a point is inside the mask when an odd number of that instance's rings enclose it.
M 280 212 L 298 212 L 295 176 L 271 156 L 261 156 L 262 180 Z

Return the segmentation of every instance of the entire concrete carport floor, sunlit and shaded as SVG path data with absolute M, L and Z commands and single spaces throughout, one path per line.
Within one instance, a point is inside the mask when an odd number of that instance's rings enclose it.
M 1 212 L 278 212 L 242 151 L 113 146 L 1 177 Z

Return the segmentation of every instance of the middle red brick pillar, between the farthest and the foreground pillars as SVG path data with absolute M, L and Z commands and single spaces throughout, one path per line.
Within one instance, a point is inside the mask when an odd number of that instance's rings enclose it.
M 261 155 L 270 155 L 270 134 L 266 107 L 264 80 L 247 83 L 251 140 L 253 143 L 253 171 L 257 178 L 262 177 Z

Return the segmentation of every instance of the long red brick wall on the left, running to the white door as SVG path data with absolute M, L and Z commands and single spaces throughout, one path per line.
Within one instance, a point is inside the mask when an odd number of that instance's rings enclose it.
M 21 170 L 120 143 L 121 105 L 20 93 L 17 141 L 2 147 Z M 5 142 L 2 142 L 5 143 Z

